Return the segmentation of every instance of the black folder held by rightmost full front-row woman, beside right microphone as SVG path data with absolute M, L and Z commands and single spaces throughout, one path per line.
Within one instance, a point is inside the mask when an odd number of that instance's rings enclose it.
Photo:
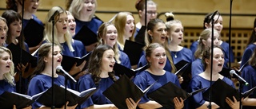
M 230 99 L 233 99 L 233 96 L 237 101 L 240 101 L 239 98 L 239 92 L 230 86 L 229 84 L 226 84 L 221 79 L 218 79 L 217 81 L 214 82 L 211 86 L 212 88 L 212 101 L 216 104 L 218 104 L 219 107 L 223 109 L 230 109 L 231 107 L 226 103 L 226 97 L 229 97 Z M 249 91 L 246 91 L 242 93 L 242 98 L 246 98 L 250 93 L 252 93 L 256 88 L 251 88 Z M 203 97 L 206 99 L 209 99 L 209 94 L 210 94 L 210 88 L 208 88 L 204 93 Z

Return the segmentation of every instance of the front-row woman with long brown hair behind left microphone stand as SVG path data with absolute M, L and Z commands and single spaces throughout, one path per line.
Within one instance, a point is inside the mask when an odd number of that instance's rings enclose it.
M 38 66 L 36 67 L 34 71 L 34 76 L 30 80 L 29 89 L 28 89 L 28 95 L 36 95 L 42 91 L 46 91 L 47 89 L 51 88 L 52 86 L 52 70 L 54 69 L 54 84 L 65 86 L 65 77 L 58 75 L 56 73 L 57 66 L 61 65 L 62 62 L 62 50 L 60 47 L 56 44 L 54 44 L 54 49 L 52 49 L 51 43 L 43 44 L 38 49 Z M 52 50 L 54 50 L 52 54 Z M 52 64 L 53 63 L 53 64 Z M 68 88 L 70 87 L 69 84 L 67 85 Z M 51 98 L 49 98 L 51 99 Z M 56 98 L 58 99 L 58 98 Z M 77 105 L 74 106 L 67 106 L 68 109 L 74 109 Z M 45 107 L 42 104 L 38 102 L 34 102 L 32 104 L 32 107 L 34 109 L 38 108 L 49 108 Z M 64 108 L 64 106 L 62 107 Z

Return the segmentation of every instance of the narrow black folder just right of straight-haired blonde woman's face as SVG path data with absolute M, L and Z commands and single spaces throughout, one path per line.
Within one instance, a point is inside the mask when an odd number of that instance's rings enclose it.
M 145 32 L 146 32 L 146 26 L 142 25 L 141 29 L 139 29 L 136 37 L 135 37 L 135 42 L 142 44 L 145 46 Z

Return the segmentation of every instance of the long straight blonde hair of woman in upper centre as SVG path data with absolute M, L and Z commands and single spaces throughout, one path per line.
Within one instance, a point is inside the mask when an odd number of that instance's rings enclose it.
M 124 37 L 123 35 L 125 34 L 125 28 L 126 28 L 126 20 L 127 16 L 131 15 L 134 18 L 134 15 L 131 14 L 130 12 L 120 12 L 114 19 L 114 26 L 118 30 L 118 44 L 120 47 L 123 49 L 125 45 Z M 134 27 L 134 31 L 132 33 L 132 36 L 129 38 L 130 41 L 134 41 L 134 33 L 136 31 L 136 28 Z

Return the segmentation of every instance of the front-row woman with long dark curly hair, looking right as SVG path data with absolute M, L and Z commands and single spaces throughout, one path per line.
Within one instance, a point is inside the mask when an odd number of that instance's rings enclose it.
M 111 84 L 118 80 L 114 76 L 114 49 L 110 45 L 98 45 L 90 56 L 88 74 L 82 76 L 78 81 L 78 91 L 85 91 L 89 88 L 99 88 L 80 106 L 81 109 L 95 108 L 117 108 L 106 96 L 102 94 Z M 129 90 L 129 89 L 127 89 Z M 127 98 L 126 105 L 129 109 L 135 109 L 138 102 Z

